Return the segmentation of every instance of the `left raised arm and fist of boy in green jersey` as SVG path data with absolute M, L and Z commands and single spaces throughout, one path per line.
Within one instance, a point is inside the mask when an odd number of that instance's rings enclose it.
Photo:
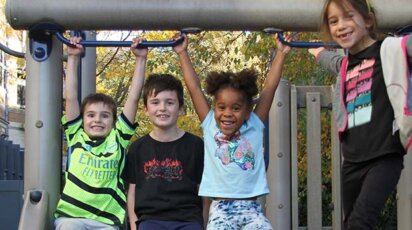
M 80 115 L 78 98 L 77 70 L 80 62 L 80 54 L 83 53 L 83 46 L 79 44 L 81 37 L 71 37 L 70 44 L 67 46 L 67 65 L 66 65 L 66 118 L 71 121 Z

